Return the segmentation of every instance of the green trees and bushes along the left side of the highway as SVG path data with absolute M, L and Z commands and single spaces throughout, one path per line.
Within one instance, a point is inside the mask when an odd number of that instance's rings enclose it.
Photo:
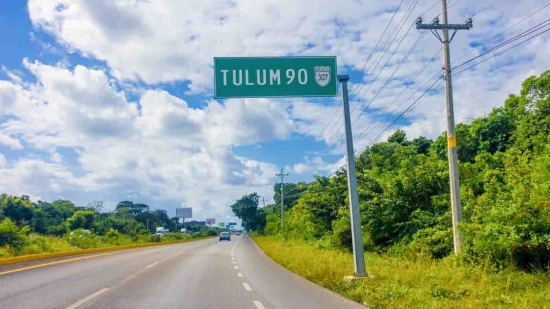
M 146 228 L 148 226 L 148 229 Z M 186 225 L 187 233 L 155 235 L 156 227 L 183 227 L 162 209 L 122 201 L 115 211 L 102 202 L 77 207 L 71 201 L 33 202 L 28 196 L 0 195 L 0 259 L 126 244 L 173 242 L 215 236 L 217 228 Z

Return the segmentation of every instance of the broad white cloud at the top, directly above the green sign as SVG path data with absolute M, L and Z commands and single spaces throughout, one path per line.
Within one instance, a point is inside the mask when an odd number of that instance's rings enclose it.
M 338 54 L 342 65 L 360 66 L 358 57 L 391 16 L 384 12 L 388 6 L 329 0 L 28 3 L 34 25 L 106 60 L 118 78 L 190 80 L 195 90 L 211 89 L 213 56 Z

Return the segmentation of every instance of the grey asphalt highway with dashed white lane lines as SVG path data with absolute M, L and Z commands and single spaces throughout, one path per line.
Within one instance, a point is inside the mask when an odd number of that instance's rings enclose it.
M 364 308 L 248 236 L 0 266 L 0 308 Z

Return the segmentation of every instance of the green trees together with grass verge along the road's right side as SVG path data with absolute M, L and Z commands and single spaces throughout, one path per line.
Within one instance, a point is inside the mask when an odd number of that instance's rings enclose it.
M 486 100 L 492 100 L 487 98 Z M 479 102 L 487 104 L 487 102 Z M 259 208 L 231 205 L 256 242 L 292 271 L 374 308 L 544 308 L 550 304 L 550 71 L 531 76 L 470 124 L 456 126 L 463 253 L 453 254 L 447 139 L 397 130 L 356 157 L 367 270 L 347 284 L 351 231 L 344 168 L 285 184 Z

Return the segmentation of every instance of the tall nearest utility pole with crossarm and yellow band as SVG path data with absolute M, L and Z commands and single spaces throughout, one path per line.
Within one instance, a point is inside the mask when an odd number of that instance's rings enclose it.
M 454 254 L 462 251 L 462 235 L 459 231 L 459 222 L 462 220 L 462 205 L 460 199 L 459 183 L 459 165 L 456 157 L 456 135 L 454 133 L 454 106 L 452 101 L 452 76 L 450 60 L 450 42 L 459 30 L 470 30 L 472 28 L 472 19 L 467 19 L 463 24 L 448 23 L 447 1 L 441 0 L 441 22 L 439 18 L 434 18 L 431 23 L 422 23 L 419 17 L 416 21 L 417 29 L 430 30 L 436 38 L 443 44 L 443 76 L 445 77 L 445 99 L 447 101 L 447 148 L 449 158 L 449 179 L 451 192 L 451 212 L 452 212 L 452 237 L 454 240 Z M 437 30 L 441 30 L 442 36 L 439 36 Z M 449 38 L 449 30 L 453 30 Z

